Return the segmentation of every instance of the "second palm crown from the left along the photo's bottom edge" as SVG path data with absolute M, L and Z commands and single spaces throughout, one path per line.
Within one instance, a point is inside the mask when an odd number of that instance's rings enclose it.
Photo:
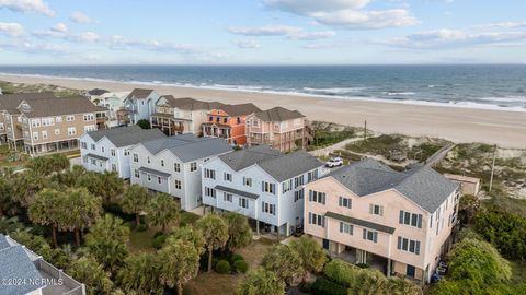
M 157 256 L 139 253 L 126 258 L 124 263 L 125 267 L 118 271 L 117 281 L 126 294 L 130 292 L 136 292 L 137 295 L 162 294 Z

